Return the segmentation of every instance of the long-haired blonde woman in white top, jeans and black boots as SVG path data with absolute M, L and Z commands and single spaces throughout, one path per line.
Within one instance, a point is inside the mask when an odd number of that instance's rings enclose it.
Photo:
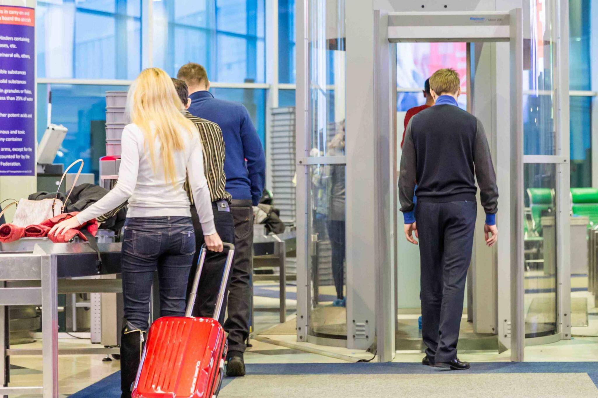
M 124 325 L 121 336 L 121 390 L 131 385 L 148 330 L 152 275 L 158 271 L 161 316 L 185 313 L 187 280 L 196 249 L 190 201 L 183 189 L 188 174 L 205 242 L 222 251 L 213 223 L 212 201 L 196 127 L 181 113 L 170 76 L 145 69 L 127 98 L 132 123 L 123 130 L 118 183 L 104 198 L 54 227 L 65 233 L 129 200 L 121 270 Z

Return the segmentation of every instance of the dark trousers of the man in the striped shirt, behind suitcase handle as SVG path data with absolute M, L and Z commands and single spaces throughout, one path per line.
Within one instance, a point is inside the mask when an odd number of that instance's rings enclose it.
M 225 201 L 213 202 L 212 211 L 214 213 L 214 225 L 216 226 L 216 232 L 218 232 L 220 239 L 222 239 L 222 242 L 234 244 L 234 223 L 230 206 Z M 193 279 L 197 270 L 197 261 L 199 260 L 200 248 L 202 247 L 203 243 L 205 243 L 202 224 L 199 222 L 199 217 L 197 216 L 197 210 L 195 206 L 191 206 L 191 219 L 193 220 L 193 227 L 195 229 L 196 252 L 193 257 L 193 266 L 191 266 L 191 272 L 189 273 L 187 297 L 189 297 L 191 287 L 193 286 Z M 206 251 L 206 260 L 203 263 L 202 275 L 199 279 L 195 307 L 193 307 L 193 316 L 213 316 L 214 310 L 216 308 L 218 290 L 220 288 L 220 283 L 222 282 L 222 273 L 224 271 L 226 257 L 227 250 L 224 250 L 220 253 L 209 250 Z M 218 321 L 220 323 L 224 322 L 225 310 L 226 294 L 224 295 L 222 311 L 218 317 Z

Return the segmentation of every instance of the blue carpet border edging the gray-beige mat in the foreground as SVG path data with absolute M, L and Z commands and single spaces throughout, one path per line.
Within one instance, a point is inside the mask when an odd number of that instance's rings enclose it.
M 429 368 L 419 363 L 255 363 L 247 365 L 248 375 L 377 375 L 438 374 L 444 369 Z M 598 362 L 478 362 L 463 374 L 488 373 L 584 373 L 598 387 Z M 224 378 L 223 388 L 232 381 Z M 70 398 L 120 397 L 120 372 L 90 385 Z

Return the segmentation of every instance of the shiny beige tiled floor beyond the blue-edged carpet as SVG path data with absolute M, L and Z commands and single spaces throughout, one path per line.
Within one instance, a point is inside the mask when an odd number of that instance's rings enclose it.
M 277 286 L 260 286 L 261 289 L 277 291 Z M 288 290 L 294 292 L 294 286 Z M 279 300 L 276 297 L 255 296 L 255 325 L 257 331 L 277 326 L 273 331 L 283 331 L 284 334 L 260 335 L 251 341 L 252 347 L 248 348 L 245 356 L 247 363 L 346 363 L 356 362 L 360 359 L 371 359 L 371 353 L 361 350 L 350 350 L 341 347 L 324 347 L 311 343 L 298 343 L 293 332 L 292 320 L 296 308 L 296 301 L 288 299 L 287 319 L 289 325 L 279 326 L 279 313 L 277 308 Z M 322 306 L 329 305 L 321 303 Z M 590 311 L 591 313 L 591 311 Z M 598 331 L 598 319 L 590 315 L 590 325 L 587 328 L 574 328 L 575 334 L 591 334 Z M 587 333 L 586 333 L 587 332 Z M 82 347 L 89 345 L 89 340 L 61 340 L 60 347 Z M 20 345 L 19 348 L 39 348 L 41 343 Z M 460 358 L 469 362 L 508 362 L 509 351 L 498 354 L 497 352 L 482 351 L 476 353 L 462 353 Z M 418 351 L 398 351 L 394 362 L 420 362 L 422 353 Z M 526 347 L 526 360 L 536 361 L 596 361 L 598 358 L 598 337 L 574 337 L 572 340 L 559 341 L 558 343 Z M 102 355 L 93 356 L 61 356 L 59 358 L 59 380 L 61 397 L 75 393 L 93 384 L 96 381 L 118 371 L 120 363 L 117 360 L 103 362 Z M 17 368 L 11 371 L 11 385 L 39 385 L 41 384 L 41 357 L 14 356 L 11 363 Z M 475 366 L 475 365 L 474 365 Z M 22 397 L 24 398 L 24 397 Z

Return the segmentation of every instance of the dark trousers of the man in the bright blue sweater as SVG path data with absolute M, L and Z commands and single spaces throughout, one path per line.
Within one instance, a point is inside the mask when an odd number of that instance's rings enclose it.
M 249 337 L 254 246 L 254 207 L 251 200 L 234 200 L 234 264 L 228 288 L 228 351 L 245 352 Z

